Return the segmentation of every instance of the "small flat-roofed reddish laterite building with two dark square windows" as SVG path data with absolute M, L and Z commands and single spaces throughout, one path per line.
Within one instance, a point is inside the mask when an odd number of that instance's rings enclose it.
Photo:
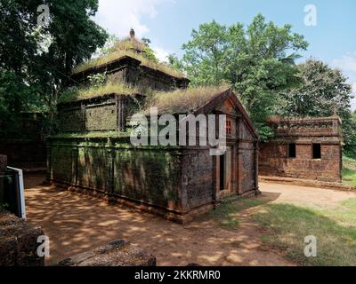
M 275 137 L 260 145 L 261 176 L 340 182 L 342 130 L 338 116 L 273 118 Z

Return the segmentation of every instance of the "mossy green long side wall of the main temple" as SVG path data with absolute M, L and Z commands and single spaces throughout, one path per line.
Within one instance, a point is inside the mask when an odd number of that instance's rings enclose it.
M 179 151 L 134 147 L 129 143 L 120 138 L 53 138 L 49 141 L 48 177 L 56 182 L 179 210 Z

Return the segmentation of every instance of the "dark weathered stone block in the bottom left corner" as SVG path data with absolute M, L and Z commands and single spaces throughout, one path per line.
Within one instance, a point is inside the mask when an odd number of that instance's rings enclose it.
M 41 227 L 0 211 L 0 266 L 43 266 L 44 257 L 37 256 L 40 235 Z

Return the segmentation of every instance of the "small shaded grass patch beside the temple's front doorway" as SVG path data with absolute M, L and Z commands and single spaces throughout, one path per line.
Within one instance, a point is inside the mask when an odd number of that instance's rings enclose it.
M 210 212 L 210 216 L 224 228 L 236 229 L 239 225 L 239 211 L 264 204 L 264 200 L 228 197 Z

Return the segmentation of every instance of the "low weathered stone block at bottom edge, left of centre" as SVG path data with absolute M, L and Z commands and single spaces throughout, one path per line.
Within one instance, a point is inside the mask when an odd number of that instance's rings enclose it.
M 77 256 L 62 260 L 60 266 L 156 266 L 156 257 L 127 241 L 112 241 Z

